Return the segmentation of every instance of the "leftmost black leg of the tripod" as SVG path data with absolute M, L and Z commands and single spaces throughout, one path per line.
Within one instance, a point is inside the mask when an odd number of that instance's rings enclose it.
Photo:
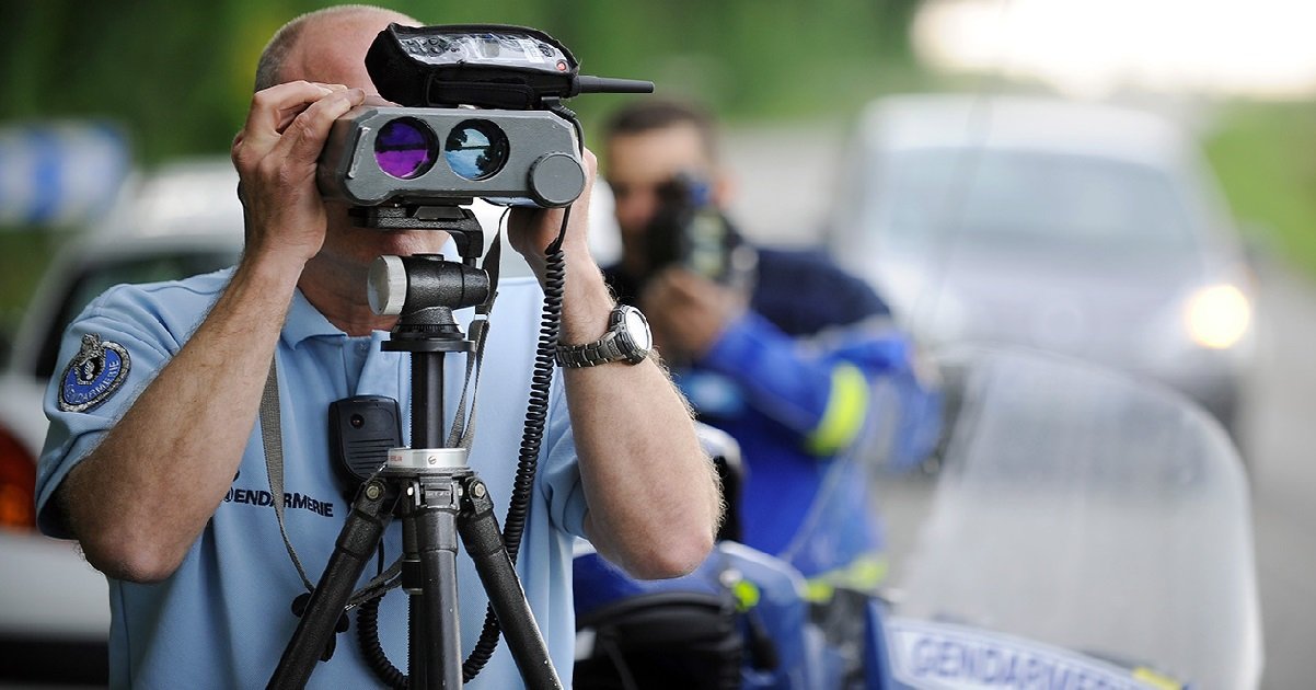
M 357 579 L 374 556 L 392 518 L 393 498 L 396 494 L 388 491 L 383 482 L 370 482 L 357 492 L 347 521 L 338 533 L 333 556 L 329 557 L 320 583 L 311 594 L 311 602 L 267 687 L 305 687 L 311 672 L 334 635 Z

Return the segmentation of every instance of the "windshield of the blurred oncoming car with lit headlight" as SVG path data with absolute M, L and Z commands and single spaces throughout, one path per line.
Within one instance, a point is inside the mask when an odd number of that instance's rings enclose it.
M 876 198 L 882 241 L 1180 253 L 1188 219 L 1148 166 L 1051 153 L 919 149 L 891 155 Z M 874 226 L 873 223 L 869 226 Z

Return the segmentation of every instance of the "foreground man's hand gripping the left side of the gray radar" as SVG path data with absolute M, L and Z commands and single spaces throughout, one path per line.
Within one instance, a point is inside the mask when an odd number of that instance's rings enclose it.
M 316 161 L 333 121 L 365 100 L 359 88 L 290 82 L 251 99 L 233 140 L 246 209 L 246 255 L 272 253 L 304 265 L 325 237 Z

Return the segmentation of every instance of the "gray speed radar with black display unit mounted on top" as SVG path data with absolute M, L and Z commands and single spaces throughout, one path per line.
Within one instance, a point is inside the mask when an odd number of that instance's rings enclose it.
M 390 25 L 366 54 L 379 93 L 334 121 L 320 155 L 326 199 L 355 207 L 563 207 L 584 191 L 586 92 L 647 93 L 651 82 L 582 76 L 544 32 L 509 25 Z

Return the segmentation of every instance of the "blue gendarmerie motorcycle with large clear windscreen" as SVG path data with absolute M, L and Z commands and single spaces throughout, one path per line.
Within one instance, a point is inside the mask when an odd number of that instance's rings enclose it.
M 1257 687 L 1248 485 L 1225 431 L 1058 356 L 937 363 L 941 444 L 887 491 L 926 516 L 882 591 L 820 611 L 787 561 L 734 541 L 661 582 L 582 554 L 578 687 Z

